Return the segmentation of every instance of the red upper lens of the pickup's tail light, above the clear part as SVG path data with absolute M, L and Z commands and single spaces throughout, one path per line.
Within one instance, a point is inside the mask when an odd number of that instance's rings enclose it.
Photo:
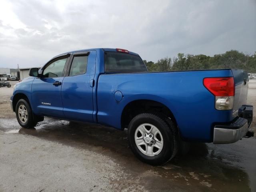
M 235 85 L 233 77 L 204 78 L 204 86 L 214 96 L 234 96 Z

